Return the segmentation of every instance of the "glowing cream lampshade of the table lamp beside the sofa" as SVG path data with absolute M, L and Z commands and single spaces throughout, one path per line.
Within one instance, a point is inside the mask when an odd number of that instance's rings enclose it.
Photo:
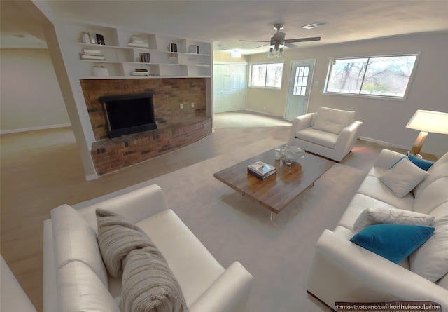
M 448 113 L 419 109 L 409 120 L 406 128 L 448 135 Z

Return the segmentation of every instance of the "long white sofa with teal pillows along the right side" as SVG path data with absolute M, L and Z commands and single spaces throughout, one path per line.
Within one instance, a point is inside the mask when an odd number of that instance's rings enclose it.
M 336 228 L 325 230 L 318 239 L 307 292 L 332 309 L 335 302 L 435 301 L 448 310 L 448 153 L 428 169 L 423 182 L 399 198 L 380 177 L 403 156 L 381 151 Z M 430 215 L 435 231 L 418 250 L 395 264 L 351 243 L 367 208 Z M 390 223 L 394 222 L 400 223 Z M 414 273 L 422 265 L 433 274 L 433 281 Z

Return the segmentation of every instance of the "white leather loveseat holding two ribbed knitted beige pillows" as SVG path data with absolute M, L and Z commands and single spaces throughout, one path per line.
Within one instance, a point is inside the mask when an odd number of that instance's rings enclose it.
M 45 312 L 120 311 L 121 280 L 109 276 L 99 251 L 97 208 L 122 215 L 151 238 L 179 282 L 188 311 L 245 311 L 253 276 L 239 262 L 224 269 L 167 208 L 159 186 L 89 203 L 76 210 L 59 206 L 44 222 Z

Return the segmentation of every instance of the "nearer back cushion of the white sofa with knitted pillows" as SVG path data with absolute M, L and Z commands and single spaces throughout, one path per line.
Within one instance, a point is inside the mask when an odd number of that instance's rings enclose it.
M 57 271 L 59 311 L 120 312 L 108 289 L 83 262 L 73 261 Z

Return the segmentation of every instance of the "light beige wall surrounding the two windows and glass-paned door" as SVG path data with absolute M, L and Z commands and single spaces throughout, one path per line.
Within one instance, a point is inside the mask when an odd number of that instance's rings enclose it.
M 330 57 L 413 52 L 421 52 L 421 55 L 405 101 L 323 94 Z M 405 126 L 417 109 L 448 112 L 448 84 L 444 79 L 448 72 L 447 53 L 447 33 L 396 36 L 318 48 L 288 49 L 285 51 L 281 91 L 249 88 L 247 108 L 255 111 L 274 112 L 277 116 L 283 116 L 288 94 L 290 62 L 315 59 L 314 86 L 311 88 L 309 96 L 308 111 L 316 111 L 319 106 L 355 110 L 356 119 L 364 122 L 361 136 L 410 149 L 419 132 L 407 129 Z M 266 55 L 267 53 L 253 55 L 248 61 L 265 61 L 267 60 Z M 318 86 L 315 83 L 318 83 Z M 446 153 L 448 151 L 448 135 L 430 133 L 422 151 L 437 156 Z

